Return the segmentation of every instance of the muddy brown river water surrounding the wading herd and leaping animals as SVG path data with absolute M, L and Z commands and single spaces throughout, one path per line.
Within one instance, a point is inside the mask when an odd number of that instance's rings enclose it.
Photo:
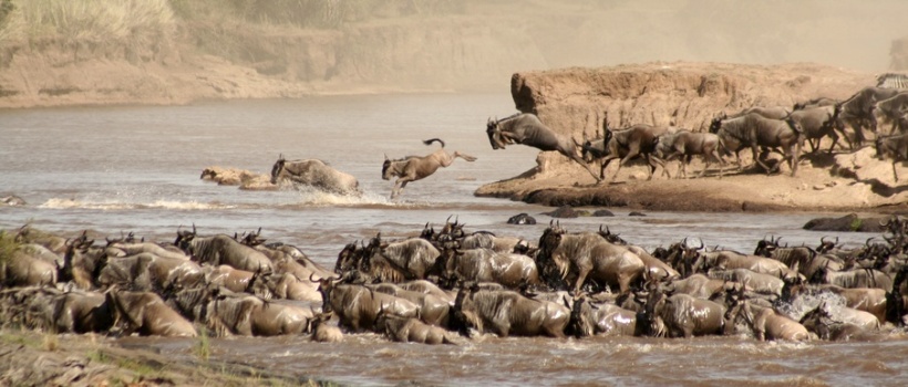
M 92 230 L 118 237 L 134 232 L 171 241 L 179 227 L 200 234 L 243 233 L 261 228 L 269 241 L 300 247 L 333 266 L 341 248 L 374 237 L 414 236 L 426 222 L 450 216 L 467 231 L 489 230 L 537 241 L 550 208 L 477 198 L 483 184 L 535 166 L 523 146 L 493 150 L 485 135 L 489 116 L 515 113 L 508 95 L 404 94 L 318 96 L 299 100 L 206 102 L 186 106 L 65 107 L 0 111 L 0 196 L 28 205 L 0 207 L 0 229 L 25 223 L 73 236 Z M 393 181 L 381 179 L 385 155 L 425 155 L 437 145 L 476 156 L 410 184 L 389 200 Z M 199 179 L 209 166 L 269 172 L 288 159 L 319 158 L 355 176 L 364 195 L 313 191 L 248 191 Z M 790 244 L 816 245 L 826 233 L 802 230 L 829 213 L 648 212 L 628 217 L 561 219 L 568 231 L 608 226 L 648 250 L 700 238 L 706 245 L 752 251 L 757 240 L 783 236 Z M 537 226 L 510 226 L 527 212 Z M 846 247 L 878 234 L 842 233 Z M 650 338 L 494 338 L 456 347 L 388 343 L 374 335 L 349 336 L 342 345 L 302 337 L 213 339 L 225 362 L 278 367 L 352 384 L 405 380 L 443 385 L 551 384 L 883 384 L 905 375 L 908 345 L 764 344 L 737 337 L 664 341 Z M 895 342 L 890 342 L 894 341 Z M 190 356 L 187 343 L 130 338 Z

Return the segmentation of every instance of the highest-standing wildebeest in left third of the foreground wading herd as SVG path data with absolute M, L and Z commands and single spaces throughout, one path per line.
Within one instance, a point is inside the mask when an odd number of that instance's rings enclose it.
M 250 272 L 274 271 L 271 260 L 262 252 L 237 242 L 227 234 L 198 237 L 195 226 L 193 231 L 177 231 L 174 244 L 199 263 L 229 264 Z

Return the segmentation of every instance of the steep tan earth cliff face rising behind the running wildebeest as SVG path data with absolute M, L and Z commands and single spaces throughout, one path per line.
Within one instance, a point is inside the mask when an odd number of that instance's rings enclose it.
M 873 74 L 818 64 L 647 63 L 516 73 L 510 92 L 522 112 L 553 129 L 595 135 L 632 124 L 704 129 L 716 114 L 751 106 L 792 106 L 819 96 L 845 98 Z

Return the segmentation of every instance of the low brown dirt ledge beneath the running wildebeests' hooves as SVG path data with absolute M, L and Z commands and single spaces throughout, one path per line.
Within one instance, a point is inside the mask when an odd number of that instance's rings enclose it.
M 871 154 L 865 148 L 861 156 Z M 750 165 L 750 157 L 742 163 Z M 693 178 L 702 168 L 699 160 L 688 167 L 688 178 L 667 179 L 661 169 L 652 180 L 647 179 L 646 167 L 622 168 L 615 182 L 596 184 L 591 176 L 567 159 L 550 167 L 553 170 L 537 174 L 529 170 L 519 177 L 481 187 L 477 196 L 509 198 L 546 206 L 603 206 L 627 207 L 656 211 L 834 211 L 898 213 L 908 210 L 908 186 L 895 186 L 891 164 L 873 159 L 876 177 L 848 176 L 845 167 L 854 158 L 849 154 L 837 157 L 821 154 L 802 159 L 797 175 L 792 177 L 787 166 L 782 172 L 767 176 L 756 168 L 737 171 L 734 164 L 726 165 L 725 175 L 719 178 L 715 165 L 703 178 Z M 870 159 L 869 157 L 865 157 Z M 616 163 L 606 170 L 609 177 Z M 669 171 L 674 177 L 677 161 L 670 161 Z M 594 168 L 596 169 L 596 168 Z M 840 175 L 833 174 L 834 170 Z M 901 167 L 902 174 L 908 172 Z M 908 175 L 906 175 L 908 176 Z M 892 186 L 889 186 L 892 185 Z

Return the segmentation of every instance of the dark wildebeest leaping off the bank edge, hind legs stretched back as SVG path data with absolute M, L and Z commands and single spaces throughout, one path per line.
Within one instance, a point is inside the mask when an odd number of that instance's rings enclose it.
M 509 144 L 523 144 L 544 151 L 557 151 L 586 168 L 596 181 L 601 180 L 577 155 L 577 144 L 574 139 L 555 133 L 535 114 L 517 113 L 502 119 L 488 118 L 485 132 L 492 149 L 504 149 Z

